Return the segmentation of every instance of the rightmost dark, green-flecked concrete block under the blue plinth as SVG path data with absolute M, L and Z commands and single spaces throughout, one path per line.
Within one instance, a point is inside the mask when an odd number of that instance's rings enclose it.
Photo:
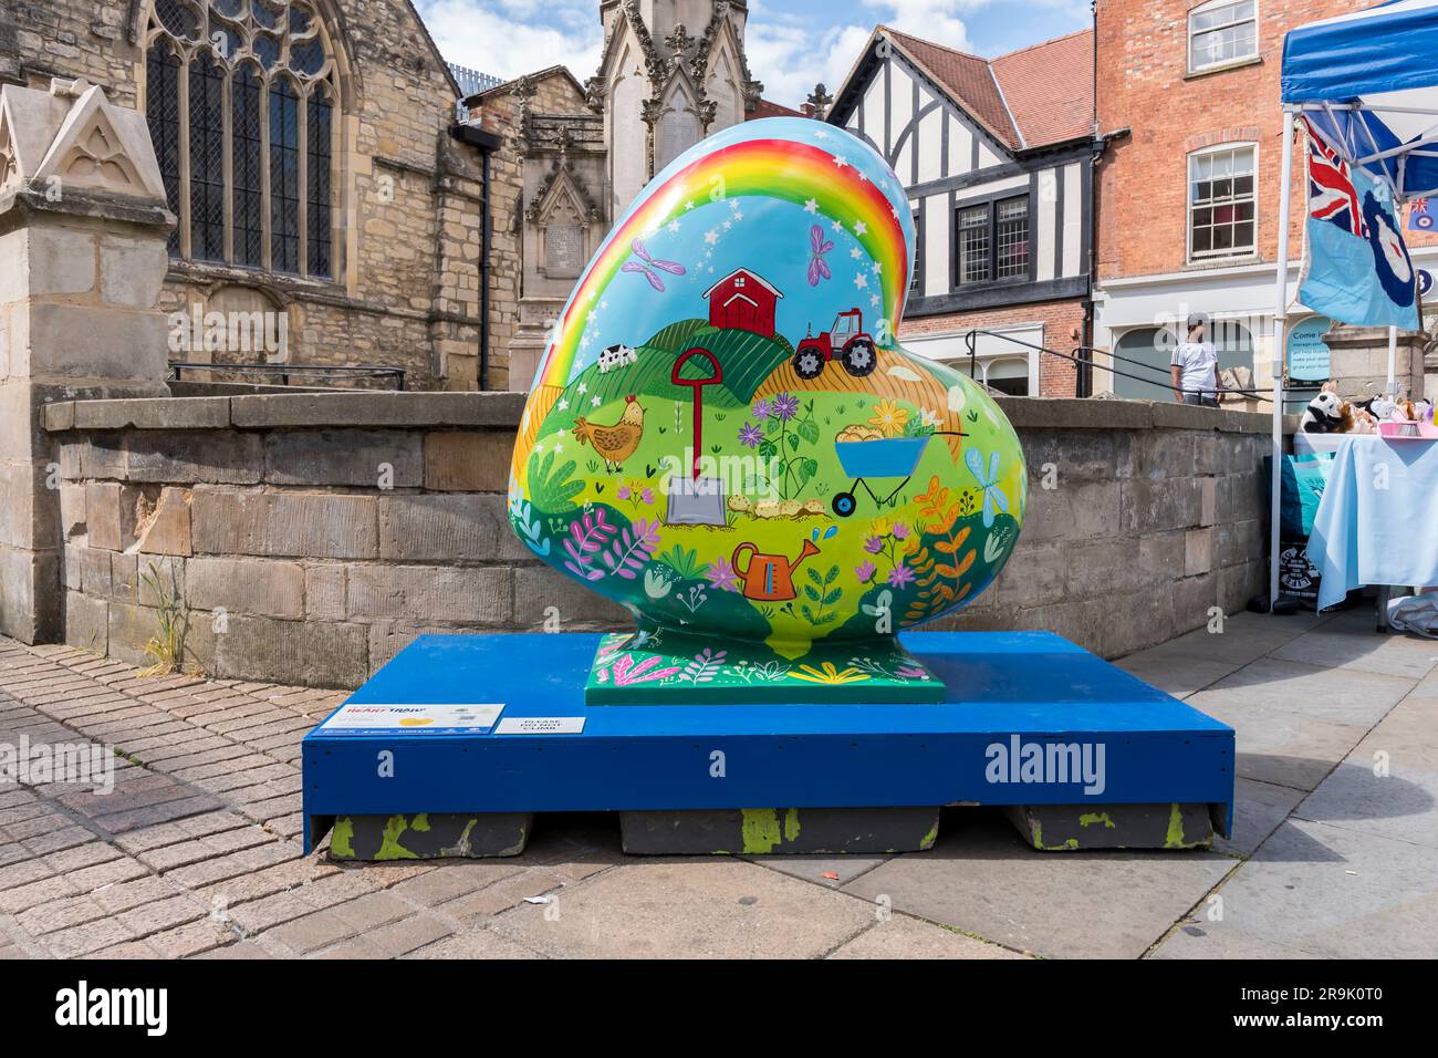
M 1011 805 L 1024 841 L 1045 852 L 1078 849 L 1206 849 L 1208 805 Z

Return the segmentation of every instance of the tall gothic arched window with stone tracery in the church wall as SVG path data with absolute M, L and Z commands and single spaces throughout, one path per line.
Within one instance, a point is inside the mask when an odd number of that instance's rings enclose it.
M 145 117 L 170 253 L 334 275 L 338 73 L 305 0 L 154 0 Z

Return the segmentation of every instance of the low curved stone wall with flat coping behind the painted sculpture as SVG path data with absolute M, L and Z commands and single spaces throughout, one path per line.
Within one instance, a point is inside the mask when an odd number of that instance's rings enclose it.
M 1261 589 L 1267 419 L 1002 403 L 1030 461 L 1028 520 L 999 582 L 939 626 L 1047 628 L 1117 656 Z M 157 574 L 191 664 L 246 679 L 357 685 L 426 630 L 627 625 L 509 531 L 521 407 L 499 393 L 49 406 L 66 642 L 141 661 Z

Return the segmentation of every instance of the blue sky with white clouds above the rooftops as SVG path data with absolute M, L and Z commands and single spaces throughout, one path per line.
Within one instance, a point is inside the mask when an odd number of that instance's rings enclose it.
M 416 7 L 446 59 L 486 73 L 512 78 L 562 62 L 584 81 L 598 65 L 598 0 L 416 0 Z M 994 56 L 1089 24 L 1089 1 L 749 0 L 749 66 L 765 98 L 794 107 L 815 81 L 835 88 L 877 23 Z

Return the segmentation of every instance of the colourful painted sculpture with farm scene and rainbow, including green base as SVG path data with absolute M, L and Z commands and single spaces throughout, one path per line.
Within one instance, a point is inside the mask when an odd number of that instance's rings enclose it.
M 974 600 L 1024 521 L 1008 420 L 894 338 L 907 197 L 864 143 L 751 121 L 628 207 L 551 335 L 509 518 L 626 606 L 585 700 L 940 701 L 896 638 Z

